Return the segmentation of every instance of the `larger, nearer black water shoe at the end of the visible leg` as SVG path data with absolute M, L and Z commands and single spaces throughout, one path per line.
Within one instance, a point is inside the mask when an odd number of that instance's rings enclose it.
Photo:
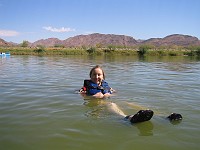
M 144 122 L 149 121 L 153 114 L 152 110 L 140 110 L 135 115 L 126 116 L 125 119 L 129 119 L 131 123 Z

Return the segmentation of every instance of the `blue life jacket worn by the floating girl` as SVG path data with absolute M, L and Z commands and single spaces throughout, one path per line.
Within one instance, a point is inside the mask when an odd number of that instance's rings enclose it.
M 94 95 L 99 92 L 102 94 L 112 93 L 108 83 L 104 80 L 102 81 L 101 86 L 92 82 L 91 80 L 84 80 L 83 89 L 86 91 L 87 95 Z

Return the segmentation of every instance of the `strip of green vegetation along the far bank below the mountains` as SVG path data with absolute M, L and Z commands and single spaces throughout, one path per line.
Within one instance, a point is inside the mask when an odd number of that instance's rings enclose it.
M 103 47 L 97 44 L 94 47 L 65 48 L 62 45 L 45 48 L 43 46 L 30 48 L 27 41 L 23 41 L 20 47 L 0 47 L 1 52 L 9 51 L 11 55 L 135 55 L 135 56 L 191 56 L 200 57 L 200 46 L 188 47 L 155 47 L 152 45 L 140 45 L 124 47 L 108 45 Z

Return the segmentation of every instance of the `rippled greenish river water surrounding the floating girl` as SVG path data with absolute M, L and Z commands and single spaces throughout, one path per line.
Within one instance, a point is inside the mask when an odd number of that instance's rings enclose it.
M 130 124 L 101 100 L 77 90 L 102 65 L 125 114 L 152 109 L 150 121 Z M 1 150 L 129 150 L 199 148 L 200 61 L 133 56 L 0 58 Z M 166 117 L 181 113 L 181 122 Z

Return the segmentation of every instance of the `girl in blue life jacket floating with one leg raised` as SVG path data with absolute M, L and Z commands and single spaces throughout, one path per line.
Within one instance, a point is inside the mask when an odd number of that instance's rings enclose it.
M 105 81 L 103 69 L 98 65 L 91 69 L 90 80 L 84 80 L 83 87 L 80 90 L 82 95 L 89 95 L 95 98 L 107 98 L 114 92 L 115 90 L 110 88 Z M 148 121 L 154 114 L 152 110 L 140 110 L 135 115 L 125 115 L 115 103 L 107 102 L 107 104 L 114 112 L 130 120 L 131 123 Z

